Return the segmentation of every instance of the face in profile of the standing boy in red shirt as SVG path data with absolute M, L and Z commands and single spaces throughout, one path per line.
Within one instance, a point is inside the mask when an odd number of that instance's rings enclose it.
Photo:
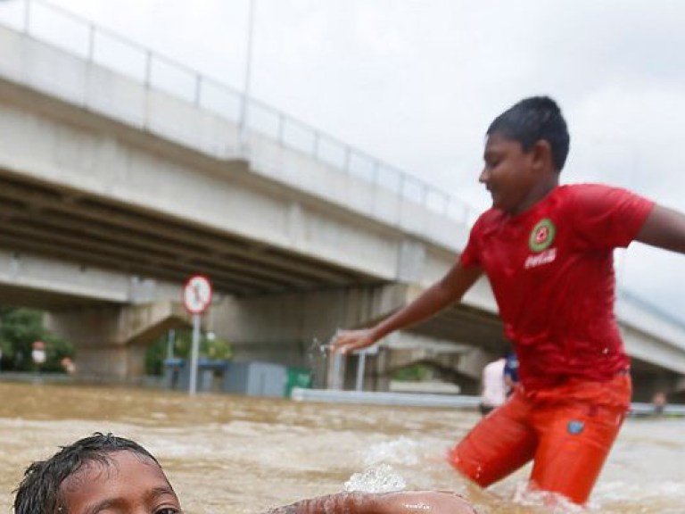
M 492 196 L 492 207 L 510 214 L 524 211 L 535 187 L 534 153 L 524 152 L 517 141 L 491 134 L 483 152 L 485 165 L 478 180 Z

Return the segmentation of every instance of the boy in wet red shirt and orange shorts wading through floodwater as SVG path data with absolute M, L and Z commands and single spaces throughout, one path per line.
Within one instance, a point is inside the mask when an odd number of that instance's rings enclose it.
M 459 260 L 376 327 L 343 331 L 334 350 L 367 347 L 432 316 L 485 273 L 521 383 L 451 450 L 450 463 L 487 486 L 533 460 L 532 488 L 584 503 L 631 401 L 613 251 L 640 241 L 685 253 L 685 215 L 624 189 L 560 186 L 569 136 L 549 97 L 514 105 L 487 136 L 479 180 L 492 207 Z

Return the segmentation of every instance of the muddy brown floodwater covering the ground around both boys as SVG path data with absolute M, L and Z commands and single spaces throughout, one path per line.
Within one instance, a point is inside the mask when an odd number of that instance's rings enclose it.
M 521 493 L 528 469 L 483 492 L 445 463 L 475 412 L 10 382 L 0 382 L 0 398 L 0 512 L 12 512 L 29 462 L 95 431 L 153 452 L 186 514 L 251 514 L 388 488 L 458 491 L 483 514 L 553 511 Z M 682 514 L 684 462 L 685 419 L 627 420 L 590 512 Z

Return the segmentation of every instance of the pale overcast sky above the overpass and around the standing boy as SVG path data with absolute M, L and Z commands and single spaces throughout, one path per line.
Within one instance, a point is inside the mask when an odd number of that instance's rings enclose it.
M 537 94 L 569 124 L 564 182 L 685 209 L 681 0 L 253 1 L 252 96 L 477 209 L 485 129 Z M 249 2 L 53 0 L 238 89 Z M 617 264 L 685 321 L 685 256 L 634 244 Z

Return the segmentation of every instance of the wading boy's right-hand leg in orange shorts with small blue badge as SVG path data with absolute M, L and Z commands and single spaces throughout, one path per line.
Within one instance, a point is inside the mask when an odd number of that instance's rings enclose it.
M 612 399 L 629 401 L 630 377 L 589 383 L 581 389 L 565 392 L 565 400 L 572 403 L 545 407 L 533 415 L 540 444 L 531 475 L 532 487 L 563 494 L 580 504 L 590 497 L 623 423 L 625 408 Z M 608 404 L 598 403 L 596 393 Z

